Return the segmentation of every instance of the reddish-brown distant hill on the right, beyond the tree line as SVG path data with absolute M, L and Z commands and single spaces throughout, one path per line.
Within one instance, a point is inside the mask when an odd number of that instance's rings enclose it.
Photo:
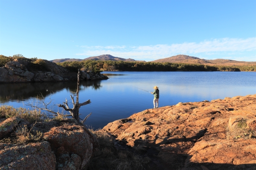
M 187 64 L 204 64 L 204 65 L 256 65 L 256 62 L 235 61 L 231 59 L 200 59 L 188 55 L 176 55 L 168 58 L 157 59 L 151 62 L 174 62 Z

